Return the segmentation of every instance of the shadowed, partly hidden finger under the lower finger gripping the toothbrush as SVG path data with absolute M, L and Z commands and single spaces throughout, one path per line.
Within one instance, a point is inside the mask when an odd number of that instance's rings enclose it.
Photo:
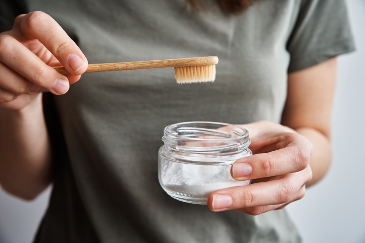
M 0 63 L 0 73 L 0 87 L 11 93 L 32 94 L 40 90 L 39 86 L 32 84 L 3 63 Z

